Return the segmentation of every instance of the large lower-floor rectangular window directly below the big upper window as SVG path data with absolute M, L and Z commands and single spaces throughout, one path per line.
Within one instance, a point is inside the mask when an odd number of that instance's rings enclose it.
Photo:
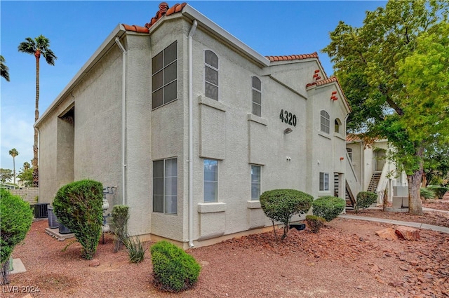
M 177 158 L 153 161 L 153 212 L 177 213 Z

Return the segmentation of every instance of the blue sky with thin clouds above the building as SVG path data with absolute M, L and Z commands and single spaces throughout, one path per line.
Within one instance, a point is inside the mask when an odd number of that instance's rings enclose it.
M 33 156 L 36 62 L 19 53 L 19 43 L 42 34 L 58 57 L 55 66 L 41 57 L 39 112 L 43 114 L 112 30 L 124 23 L 144 26 L 161 1 L 0 1 L 1 55 L 10 82 L 0 79 L 0 168 L 16 171 Z M 182 1 L 166 1 L 173 6 Z M 321 49 L 340 20 L 360 27 L 366 11 L 386 1 L 187 1 L 261 55 L 318 52 L 328 75 L 332 65 Z

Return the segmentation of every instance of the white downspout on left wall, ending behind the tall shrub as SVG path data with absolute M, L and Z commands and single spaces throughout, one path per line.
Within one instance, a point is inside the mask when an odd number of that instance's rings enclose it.
M 115 42 L 122 53 L 122 74 L 121 74 L 121 198 L 122 204 L 126 205 L 126 50 L 120 43 L 119 36 Z

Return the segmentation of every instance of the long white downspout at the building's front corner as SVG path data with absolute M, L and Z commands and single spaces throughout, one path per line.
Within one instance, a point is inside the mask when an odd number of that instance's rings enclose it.
M 196 26 L 198 22 L 194 20 L 192 28 L 189 32 L 189 247 L 194 247 L 194 242 L 192 238 L 194 237 L 194 137 L 193 137 L 193 129 L 194 129 L 194 84 L 193 84 L 193 45 L 192 45 L 192 36 L 195 34 Z

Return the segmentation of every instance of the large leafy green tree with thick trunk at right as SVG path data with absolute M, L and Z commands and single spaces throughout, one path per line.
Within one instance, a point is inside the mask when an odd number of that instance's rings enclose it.
M 353 113 L 349 133 L 387 138 L 408 176 L 410 213 L 422 215 L 425 152 L 449 144 L 448 1 L 389 1 L 363 26 L 341 22 L 324 53 Z

